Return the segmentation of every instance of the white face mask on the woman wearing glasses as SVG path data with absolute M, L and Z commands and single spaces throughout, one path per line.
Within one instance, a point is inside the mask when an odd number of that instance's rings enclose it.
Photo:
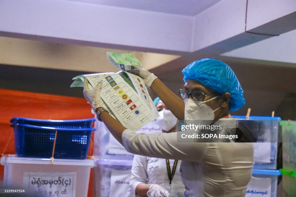
M 212 110 L 206 102 L 214 100 L 218 98 L 218 96 L 213 97 L 206 101 L 195 101 L 193 99 L 185 99 L 185 117 L 186 121 L 193 120 L 214 120 L 214 112 L 220 109 L 221 107 Z

